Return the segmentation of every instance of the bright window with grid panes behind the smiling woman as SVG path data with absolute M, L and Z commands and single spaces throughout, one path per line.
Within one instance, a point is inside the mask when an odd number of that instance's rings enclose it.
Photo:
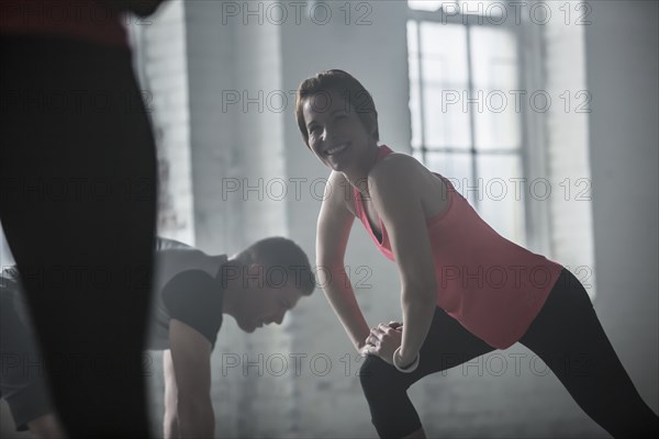
M 409 1 L 412 151 L 524 246 L 521 61 L 502 1 Z

